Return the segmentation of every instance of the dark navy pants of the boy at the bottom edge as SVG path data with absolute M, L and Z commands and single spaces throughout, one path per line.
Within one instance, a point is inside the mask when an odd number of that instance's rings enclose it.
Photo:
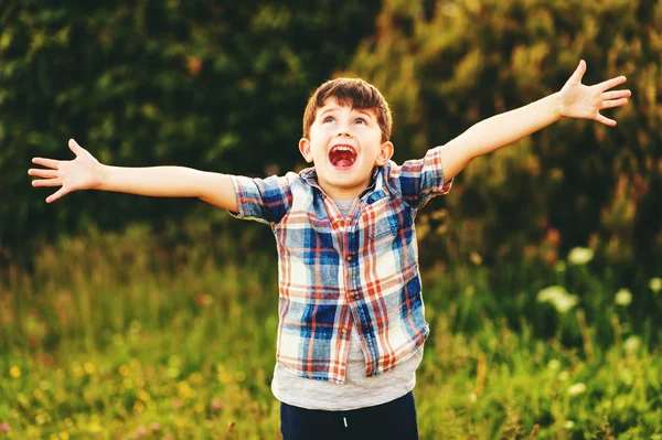
M 284 440 L 418 440 L 414 393 L 374 407 L 319 411 L 280 404 Z

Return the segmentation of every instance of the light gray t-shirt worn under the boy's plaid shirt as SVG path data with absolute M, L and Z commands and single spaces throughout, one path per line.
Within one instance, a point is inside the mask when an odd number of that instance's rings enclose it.
M 334 202 L 346 218 L 353 202 Z M 365 377 L 365 355 L 355 326 L 352 328 L 350 335 L 344 384 L 299 377 L 277 363 L 271 382 L 274 396 L 285 404 L 300 408 L 349 411 L 386 404 L 414 389 L 416 368 L 423 359 L 423 346 L 393 369 L 377 376 Z

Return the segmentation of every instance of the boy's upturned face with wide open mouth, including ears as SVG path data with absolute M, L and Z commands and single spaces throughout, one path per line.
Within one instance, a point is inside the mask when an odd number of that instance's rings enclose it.
M 310 139 L 299 141 L 318 183 L 334 200 L 353 200 L 367 187 L 375 167 L 393 155 L 393 143 L 382 142 L 373 109 L 356 109 L 330 98 L 317 110 Z

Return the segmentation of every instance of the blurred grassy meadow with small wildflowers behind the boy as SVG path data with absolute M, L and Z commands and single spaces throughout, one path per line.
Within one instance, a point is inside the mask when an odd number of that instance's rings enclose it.
M 0 440 L 279 438 L 263 238 L 92 229 L 3 270 Z M 425 270 L 421 439 L 662 439 L 660 330 L 630 312 L 662 279 L 621 289 L 592 257 Z

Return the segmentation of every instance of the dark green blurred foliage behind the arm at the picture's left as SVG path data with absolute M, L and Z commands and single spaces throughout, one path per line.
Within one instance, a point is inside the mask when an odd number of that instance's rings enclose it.
M 32 157 L 236 174 L 289 170 L 311 93 L 369 34 L 378 1 L 0 2 L 0 261 L 35 238 L 137 219 L 181 201 L 74 194 L 47 206 Z M 206 213 L 205 213 L 206 215 Z

